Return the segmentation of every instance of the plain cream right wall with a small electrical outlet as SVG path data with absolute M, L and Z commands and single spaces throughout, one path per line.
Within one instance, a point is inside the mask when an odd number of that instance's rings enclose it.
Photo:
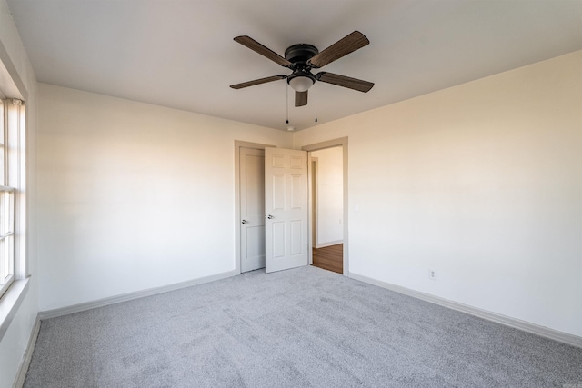
M 351 274 L 582 336 L 582 51 L 295 144 L 343 136 Z

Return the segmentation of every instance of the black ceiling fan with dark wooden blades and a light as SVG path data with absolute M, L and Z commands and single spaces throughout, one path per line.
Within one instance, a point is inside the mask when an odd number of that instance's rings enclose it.
M 276 54 L 273 50 L 256 42 L 249 36 L 236 36 L 235 41 L 244 45 L 260 55 L 266 56 L 271 61 L 279 65 L 288 67 L 293 71 L 290 75 L 273 75 L 266 78 L 259 78 L 242 84 L 230 85 L 233 89 L 242 89 L 247 86 L 265 84 L 267 82 L 286 79 L 295 92 L 295 105 L 304 106 L 307 104 L 307 93 L 309 88 L 316 81 L 325 82 L 338 86 L 347 87 L 366 93 L 374 83 L 362 81 L 360 79 L 348 77 L 346 75 L 336 75 L 333 73 L 319 72 L 316 75 L 311 73 L 312 69 L 318 69 L 328 65 L 344 55 L 348 55 L 357 49 L 368 45 L 370 41 L 359 31 L 346 35 L 335 44 L 330 45 L 322 52 L 317 50 L 315 45 L 298 44 L 291 45 L 285 50 L 285 57 Z

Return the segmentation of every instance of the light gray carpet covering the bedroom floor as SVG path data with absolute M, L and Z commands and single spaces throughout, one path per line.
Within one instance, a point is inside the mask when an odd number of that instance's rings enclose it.
M 563 387 L 582 349 L 315 267 L 42 322 L 25 387 Z

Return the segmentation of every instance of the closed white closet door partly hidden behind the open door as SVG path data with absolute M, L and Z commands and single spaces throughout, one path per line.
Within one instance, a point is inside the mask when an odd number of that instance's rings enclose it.
M 240 271 L 265 267 L 265 151 L 240 148 Z

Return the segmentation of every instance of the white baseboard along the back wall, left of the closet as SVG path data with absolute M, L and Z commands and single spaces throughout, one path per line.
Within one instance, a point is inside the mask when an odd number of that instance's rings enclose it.
M 236 272 L 236 270 L 228 271 L 228 272 L 222 273 L 222 274 L 213 274 L 210 276 L 205 276 L 205 277 L 201 277 L 201 278 L 194 279 L 194 280 L 189 280 L 189 281 L 182 282 L 182 283 L 169 284 L 169 285 L 164 285 L 161 287 L 149 288 L 147 290 L 136 291 L 135 293 L 124 293 L 121 295 L 111 296 L 109 298 L 98 299 L 98 300 L 92 301 L 92 302 L 79 303 L 79 304 L 74 304 L 72 306 L 66 306 L 66 307 L 62 307 L 62 308 L 58 308 L 58 309 L 46 310 L 46 311 L 40 312 L 39 316 L 40 316 L 40 319 L 43 320 L 43 319 L 55 318 L 57 316 L 68 315 L 70 313 L 79 313 L 79 312 L 82 312 L 85 310 L 91 310 L 91 309 L 95 309 L 97 307 L 103 307 L 103 306 L 106 306 L 109 304 L 131 301 L 133 299 L 143 298 L 145 296 L 156 295 L 157 293 L 167 293 L 168 291 L 175 291 L 175 290 L 179 290 L 181 288 L 191 287 L 191 286 L 197 285 L 197 284 L 205 284 L 205 283 L 209 283 L 209 282 L 214 282 L 216 280 L 226 279 L 227 277 L 235 276 L 237 274 L 239 274 L 239 273 Z

